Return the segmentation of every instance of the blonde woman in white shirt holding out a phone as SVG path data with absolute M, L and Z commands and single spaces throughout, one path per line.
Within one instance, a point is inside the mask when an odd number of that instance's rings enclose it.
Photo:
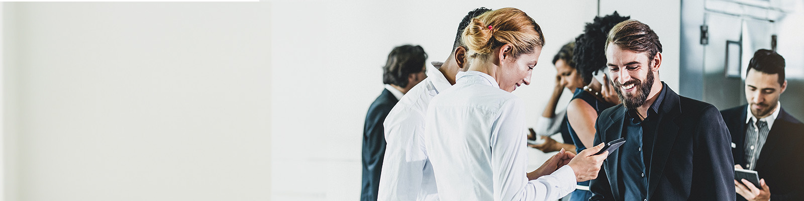
M 463 32 L 469 71 L 435 96 L 425 117 L 425 147 L 441 200 L 555 200 L 576 181 L 597 177 L 606 155 L 560 151 L 527 173 L 523 101 L 544 46 L 539 24 L 522 10 L 491 10 Z

